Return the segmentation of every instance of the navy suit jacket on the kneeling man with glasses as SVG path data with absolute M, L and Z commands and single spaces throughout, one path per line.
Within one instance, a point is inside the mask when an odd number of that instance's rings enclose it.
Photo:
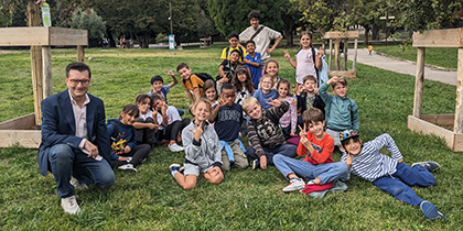
M 98 146 L 98 153 L 110 162 L 110 143 L 106 130 L 105 106 L 103 100 L 88 94 L 87 138 Z M 67 144 L 78 151 L 82 138 L 75 136 L 73 106 L 68 90 L 55 94 L 42 101 L 42 143 L 39 147 L 40 173 L 45 176 L 51 169 L 49 163 L 50 148 L 56 144 Z M 84 155 L 82 152 L 78 154 Z

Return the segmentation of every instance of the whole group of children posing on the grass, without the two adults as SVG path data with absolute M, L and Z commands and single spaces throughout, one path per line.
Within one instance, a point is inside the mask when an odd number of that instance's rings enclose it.
M 335 180 L 346 180 L 354 173 L 399 200 L 419 205 L 430 219 L 445 218 L 409 187 L 433 186 L 435 179 L 430 172 L 438 169 L 439 164 L 422 162 L 407 166 L 388 134 L 362 143 L 357 134 L 358 107 L 347 97 L 347 81 L 333 77 L 319 88 L 316 72 L 323 50 L 312 47 L 310 33 L 302 33 L 302 48 L 295 62 L 286 55 L 297 68 L 294 96 L 290 81 L 278 76 L 278 62 L 268 61 L 263 75 L 259 76 L 261 64 L 255 43 L 248 41 L 245 51 L 238 41 L 238 34 L 232 33 L 216 80 L 193 74 L 185 63 L 177 65 L 182 86 L 192 102 L 189 107 L 192 121 L 182 120 L 183 110 L 166 103 L 166 94 L 177 84 L 173 72 L 166 73 L 173 77 L 172 84 L 163 85 L 162 78 L 154 76 L 150 94 L 137 97 L 136 106 L 126 106 L 119 120 L 111 120 L 108 133 L 119 131 L 114 138 L 112 153 L 118 168 L 136 172 L 150 145 L 168 144 L 172 152 L 185 152 L 183 166 L 169 167 L 185 190 L 196 186 L 197 177 L 219 184 L 224 170 L 232 166 L 247 168 L 249 157 L 252 169 L 277 166 L 290 180 L 283 191 L 326 190 Z M 330 85 L 334 95 L 327 92 Z M 240 140 L 244 134 L 249 140 L 247 148 Z M 343 156 L 334 163 L 336 146 Z M 392 157 L 379 153 L 383 146 Z M 298 155 L 305 157 L 295 160 Z

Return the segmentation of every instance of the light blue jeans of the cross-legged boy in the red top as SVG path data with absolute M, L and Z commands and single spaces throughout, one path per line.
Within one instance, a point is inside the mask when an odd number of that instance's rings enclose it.
M 302 178 L 319 178 L 320 185 L 329 184 L 348 172 L 345 162 L 313 165 L 309 162 L 290 158 L 283 155 L 273 156 L 274 166 L 284 177 L 295 174 Z M 289 178 L 288 178 L 289 179 Z

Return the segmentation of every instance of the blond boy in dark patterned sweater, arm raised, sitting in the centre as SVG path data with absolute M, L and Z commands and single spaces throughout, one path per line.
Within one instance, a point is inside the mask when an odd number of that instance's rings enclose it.
M 262 77 L 263 78 L 263 77 Z M 269 79 L 271 81 L 271 79 Z M 250 146 L 246 154 L 251 157 L 252 169 L 258 167 L 267 169 L 267 165 L 273 165 L 273 155 L 282 154 L 294 157 L 295 145 L 287 144 L 284 135 L 278 125 L 279 118 L 289 110 L 287 101 L 271 100 L 266 102 L 272 106 L 269 110 L 262 110 L 259 101 L 247 98 L 243 101 L 243 109 L 250 117 L 248 122 L 248 139 Z

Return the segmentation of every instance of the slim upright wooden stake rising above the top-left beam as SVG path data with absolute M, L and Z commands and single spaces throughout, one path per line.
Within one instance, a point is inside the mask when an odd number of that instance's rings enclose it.
M 28 26 L 40 26 L 40 7 L 32 1 L 28 2 Z M 41 102 L 43 100 L 42 89 L 42 46 L 31 46 L 31 74 L 32 89 L 34 95 L 35 127 L 42 127 Z

